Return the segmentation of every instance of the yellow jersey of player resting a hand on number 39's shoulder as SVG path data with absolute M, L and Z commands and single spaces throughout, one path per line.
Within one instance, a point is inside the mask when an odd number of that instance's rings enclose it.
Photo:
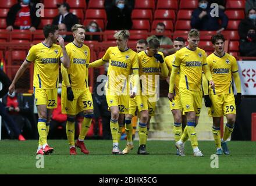
M 109 47 L 102 60 L 109 61 L 106 89 L 129 94 L 129 75 L 138 69 L 138 56 L 132 49 L 120 51 L 118 47 Z

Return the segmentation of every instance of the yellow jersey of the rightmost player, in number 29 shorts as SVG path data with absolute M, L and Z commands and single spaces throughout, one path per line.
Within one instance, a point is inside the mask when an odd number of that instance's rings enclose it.
M 232 73 L 238 71 L 236 59 L 228 53 L 221 58 L 211 53 L 207 57 L 207 63 L 215 83 L 215 89 L 209 89 L 209 94 L 233 94 Z

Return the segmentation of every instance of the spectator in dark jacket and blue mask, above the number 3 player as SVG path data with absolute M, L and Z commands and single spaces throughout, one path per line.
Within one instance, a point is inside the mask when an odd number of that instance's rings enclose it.
M 216 30 L 217 33 L 225 30 L 227 27 L 228 18 L 223 10 L 219 9 L 219 16 L 211 15 L 211 6 L 208 0 L 199 0 L 198 8 L 193 10 L 191 16 L 191 28 L 197 30 Z M 221 19 L 221 24 L 219 24 Z

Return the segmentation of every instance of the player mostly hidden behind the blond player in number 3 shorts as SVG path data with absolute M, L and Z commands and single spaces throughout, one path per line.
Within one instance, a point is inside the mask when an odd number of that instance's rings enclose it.
M 175 52 L 179 51 L 185 47 L 185 40 L 182 37 L 177 37 L 173 41 L 173 49 Z M 168 84 L 170 83 L 170 73 L 172 72 L 172 65 L 175 62 L 175 53 L 172 55 L 165 57 L 165 63 L 169 70 L 169 77 L 166 78 Z M 182 123 L 186 126 L 186 115 L 182 115 L 182 102 L 180 101 L 180 94 L 179 94 L 179 81 L 180 81 L 180 72 L 177 71 L 177 76 L 175 79 L 175 100 L 170 102 L 170 110 L 172 110 L 172 115 L 174 119 L 173 124 L 173 134 L 175 138 L 175 142 L 179 141 L 182 137 Z M 179 155 L 179 151 L 177 149 L 177 155 Z

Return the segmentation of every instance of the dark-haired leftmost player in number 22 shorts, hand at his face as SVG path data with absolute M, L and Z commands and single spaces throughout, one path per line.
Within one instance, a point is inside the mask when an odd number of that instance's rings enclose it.
M 70 60 L 67 56 L 64 40 L 59 37 L 58 26 L 47 24 L 43 31 L 45 40 L 30 48 L 26 59 L 9 87 L 9 93 L 12 94 L 19 78 L 27 67 L 34 62 L 33 86 L 35 105 L 37 105 L 38 111 L 37 128 L 39 133 L 37 154 L 47 155 L 54 151 L 47 144 L 47 135 L 52 111 L 57 107 L 59 61 L 61 60 L 63 66 L 68 68 Z M 59 41 L 59 45 L 55 44 L 56 41 Z

